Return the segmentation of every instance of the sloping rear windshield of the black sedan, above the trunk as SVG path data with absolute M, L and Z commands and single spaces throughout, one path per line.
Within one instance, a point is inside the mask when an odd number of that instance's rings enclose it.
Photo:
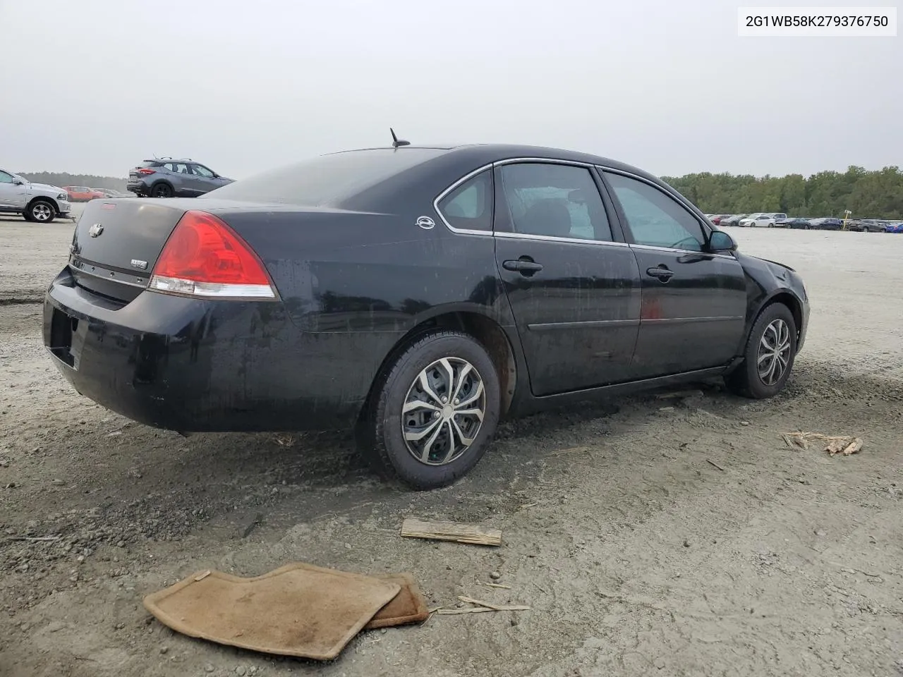
M 201 198 L 330 206 L 442 153 L 434 148 L 331 153 L 230 183 Z

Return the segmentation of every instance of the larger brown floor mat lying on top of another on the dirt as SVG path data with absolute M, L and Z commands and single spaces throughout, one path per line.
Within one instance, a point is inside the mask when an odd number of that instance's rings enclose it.
M 199 571 L 145 597 L 144 608 L 183 635 L 328 661 L 400 590 L 395 580 L 298 562 L 250 579 Z

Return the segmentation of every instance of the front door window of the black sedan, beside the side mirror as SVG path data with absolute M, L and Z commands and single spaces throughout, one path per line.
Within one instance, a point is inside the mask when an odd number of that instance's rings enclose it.
M 703 227 L 693 213 L 645 181 L 605 172 L 638 245 L 703 251 Z

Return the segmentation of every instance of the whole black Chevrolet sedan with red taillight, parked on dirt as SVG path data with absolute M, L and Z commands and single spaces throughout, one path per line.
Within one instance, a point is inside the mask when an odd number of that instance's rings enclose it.
M 654 176 L 510 145 L 334 153 L 196 199 L 96 199 L 44 304 L 80 393 L 174 431 L 354 426 L 418 488 L 502 417 L 722 376 L 779 393 L 789 267 Z

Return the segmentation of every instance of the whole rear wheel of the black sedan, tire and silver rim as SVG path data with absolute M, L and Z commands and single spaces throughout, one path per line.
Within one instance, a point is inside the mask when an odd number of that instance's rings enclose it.
M 358 444 L 409 487 L 446 487 L 486 452 L 499 403 L 498 374 L 486 349 L 461 331 L 431 331 L 380 377 Z

